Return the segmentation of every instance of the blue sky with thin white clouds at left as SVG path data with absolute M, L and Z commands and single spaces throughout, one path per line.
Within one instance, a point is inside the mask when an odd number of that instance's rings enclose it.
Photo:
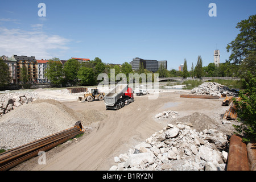
M 46 17 L 38 16 L 41 2 Z M 216 17 L 208 15 L 210 3 Z M 0 7 L 0 55 L 100 57 L 114 64 L 141 57 L 167 60 L 170 70 L 184 59 L 190 69 L 199 55 L 204 66 L 213 63 L 216 44 L 224 63 L 237 23 L 255 14 L 256 1 L 1 0 Z

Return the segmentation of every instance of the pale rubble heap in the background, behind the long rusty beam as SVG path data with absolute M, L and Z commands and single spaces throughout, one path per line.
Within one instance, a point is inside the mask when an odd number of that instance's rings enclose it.
M 196 88 L 193 88 L 191 94 L 209 96 L 221 96 L 221 94 L 226 94 L 228 96 L 238 96 L 235 90 L 230 90 L 228 86 L 218 84 L 217 82 L 204 82 Z

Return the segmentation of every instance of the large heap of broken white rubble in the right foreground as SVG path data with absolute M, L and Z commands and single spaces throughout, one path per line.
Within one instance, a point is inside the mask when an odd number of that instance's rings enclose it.
M 224 171 L 226 135 L 212 129 L 196 131 L 186 123 L 168 124 L 130 149 L 115 156 L 110 170 Z

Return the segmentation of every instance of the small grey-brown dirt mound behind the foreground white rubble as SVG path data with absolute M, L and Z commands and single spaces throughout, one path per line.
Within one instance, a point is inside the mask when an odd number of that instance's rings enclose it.
M 192 129 L 196 129 L 197 131 L 203 131 L 205 129 L 209 130 L 217 127 L 216 122 L 212 118 L 198 112 L 178 118 L 176 119 L 176 122 L 191 123 Z

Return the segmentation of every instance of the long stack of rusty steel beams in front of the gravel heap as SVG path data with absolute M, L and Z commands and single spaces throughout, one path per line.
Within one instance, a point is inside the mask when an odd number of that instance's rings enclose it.
M 76 135 L 84 133 L 84 131 L 81 121 L 79 121 L 70 129 L 60 131 L 59 133 L 49 135 L 48 137 L 3 152 L 0 154 L 0 171 L 6 171 L 13 168 L 16 165 L 37 156 L 40 151 L 50 150 L 51 148 L 76 137 Z

